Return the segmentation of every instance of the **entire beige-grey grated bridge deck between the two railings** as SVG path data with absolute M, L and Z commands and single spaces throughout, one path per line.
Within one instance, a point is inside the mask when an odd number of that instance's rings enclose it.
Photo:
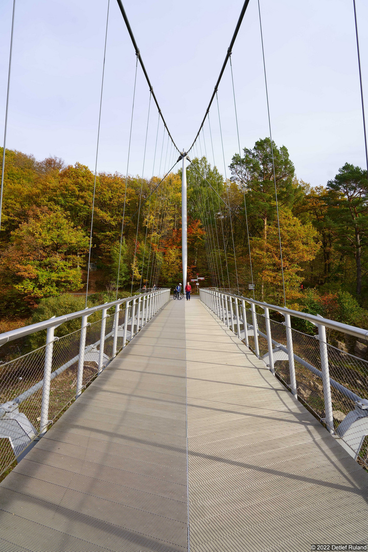
M 187 421 L 193 552 L 367 542 L 368 474 L 193 298 L 170 301 L 0 484 L 2 549 L 187 550 Z

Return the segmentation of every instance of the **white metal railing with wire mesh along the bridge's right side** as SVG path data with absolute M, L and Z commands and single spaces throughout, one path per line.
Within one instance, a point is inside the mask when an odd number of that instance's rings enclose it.
M 368 362 L 334 347 L 326 337 L 328 328 L 368 345 L 367 330 L 227 290 L 201 289 L 200 299 L 368 466 Z M 270 311 L 284 321 L 271 319 Z M 311 322 L 316 335 L 296 330 L 293 319 Z

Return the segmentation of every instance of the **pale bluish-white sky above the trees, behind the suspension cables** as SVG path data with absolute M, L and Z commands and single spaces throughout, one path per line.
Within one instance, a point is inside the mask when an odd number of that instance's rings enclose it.
M 243 0 L 124 1 L 180 150 L 188 150 L 204 118 L 242 5 Z M 0 2 L 0 144 L 12 7 L 13 0 Z M 108 0 L 16 0 L 8 148 L 38 160 L 78 161 L 94 170 L 107 9 Z M 297 178 L 326 185 L 345 162 L 365 167 L 353 0 L 260 0 L 260 9 L 273 140 L 289 150 Z M 368 106 L 368 3 L 356 0 L 356 9 Z M 158 125 L 139 66 L 129 153 L 135 66 L 118 4 L 110 0 L 97 170 L 149 178 L 163 174 L 177 156 Z M 249 2 L 232 66 L 239 140 L 241 148 L 251 148 L 269 136 L 257 0 Z M 230 176 L 228 165 L 238 152 L 230 66 L 218 104 L 224 155 L 215 103 L 210 111 L 214 156 L 207 121 L 195 155 L 207 152 L 209 161 Z

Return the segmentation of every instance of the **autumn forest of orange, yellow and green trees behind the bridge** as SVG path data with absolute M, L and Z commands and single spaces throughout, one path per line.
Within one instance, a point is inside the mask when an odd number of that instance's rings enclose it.
M 368 327 L 367 172 L 342 160 L 313 187 L 296 178 L 285 146 L 273 150 L 275 179 L 268 138 L 233 156 L 228 181 L 206 157 L 189 164 L 189 278 L 246 296 L 254 284 L 257 299 L 282 304 L 281 238 L 288 306 Z M 161 178 L 97 175 L 93 294 L 181 282 L 181 172 Z M 6 151 L 1 331 L 28 323 L 47 298 L 85 291 L 93 187 L 80 163 Z

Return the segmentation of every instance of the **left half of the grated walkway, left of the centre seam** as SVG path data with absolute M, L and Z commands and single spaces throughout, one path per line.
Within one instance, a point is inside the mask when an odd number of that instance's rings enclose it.
M 160 311 L 0 484 L 2 550 L 187 550 L 184 310 Z

